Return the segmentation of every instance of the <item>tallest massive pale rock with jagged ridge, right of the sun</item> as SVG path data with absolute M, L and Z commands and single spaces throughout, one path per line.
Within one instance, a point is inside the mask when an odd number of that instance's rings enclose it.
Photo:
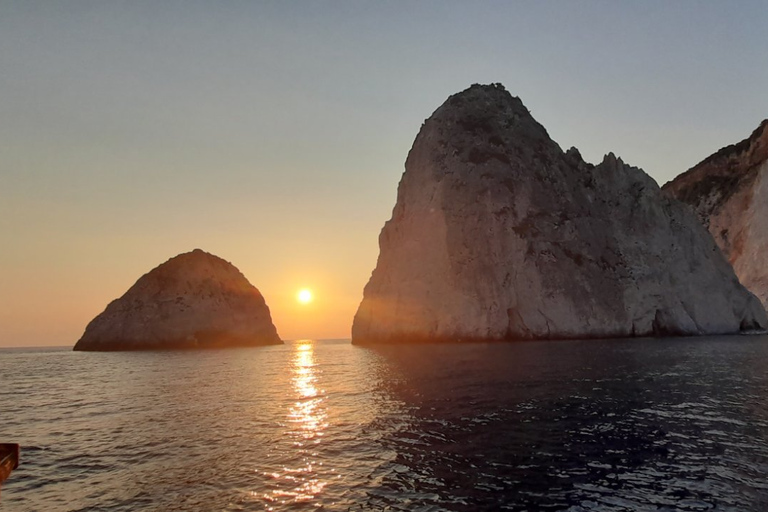
M 613 154 L 563 152 L 501 85 L 422 126 L 354 343 L 736 333 L 760 302 L 692 212 Z

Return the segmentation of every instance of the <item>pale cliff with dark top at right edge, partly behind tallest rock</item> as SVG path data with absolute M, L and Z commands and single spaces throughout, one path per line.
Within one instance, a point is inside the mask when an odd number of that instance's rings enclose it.
M 768 119 L 664 191 L 693 206 L 741 283 L 768 307 Z

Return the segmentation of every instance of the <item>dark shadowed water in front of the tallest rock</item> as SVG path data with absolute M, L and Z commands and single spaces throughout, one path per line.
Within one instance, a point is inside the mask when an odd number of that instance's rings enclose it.
M 369 504 L 764 510 L 768 416 L 761 409 L 745 417 L 743 409 L 744 384 L 759 377 L 764 385 L 764 372 L 733 366 L 764 354 L 764 340 L 734 342 L 453 344 L 442 353 L 417 345 L 405 354 L 395 347 L 390 359 L 408 385 L 391 389 L 407 415 L 379 420 L 380 443 L 396 457 Z M 701 345 L 707 353 L 691 357 Z

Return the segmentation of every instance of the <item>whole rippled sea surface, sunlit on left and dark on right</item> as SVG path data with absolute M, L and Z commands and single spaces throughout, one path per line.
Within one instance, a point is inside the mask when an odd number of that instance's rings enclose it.
M 768 510 L 768 338 L 0 351 L 0 511 Z

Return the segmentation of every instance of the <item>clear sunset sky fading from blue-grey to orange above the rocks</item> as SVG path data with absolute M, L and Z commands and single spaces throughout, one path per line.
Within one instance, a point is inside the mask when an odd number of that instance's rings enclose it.
M 348 338 L 449 95 L 501 82 L 663 184 L 768 117 L 766 26 L 748 0 L 0 0 L 0 347 L 73 345 L 194 248 L 283 339 Z

